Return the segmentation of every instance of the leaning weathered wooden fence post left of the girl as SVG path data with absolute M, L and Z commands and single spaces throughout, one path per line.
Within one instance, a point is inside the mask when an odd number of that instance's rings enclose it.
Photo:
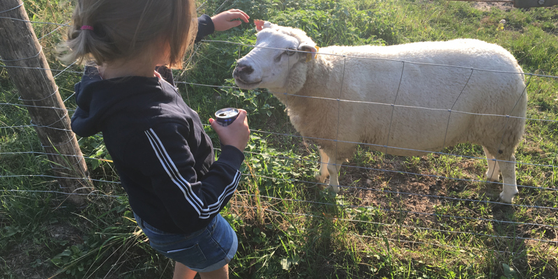
M 2 18 L 8 17 L 8 18 Z M 68 193 L 90 193 L 85 160 L 70 130 L 68 110 L 21 0 L 0 1 L 0 57 L 43 144 L 54 176 Z M 69 195 L 81 204 L 82 195 Z

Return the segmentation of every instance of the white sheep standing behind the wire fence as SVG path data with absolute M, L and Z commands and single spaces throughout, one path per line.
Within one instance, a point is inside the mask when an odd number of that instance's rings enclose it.
M 487 179 L 502 173 L 502 201 L 518 193 L 513 153 L 525 130 L 527 92 L 504 48 L 458 39 L 318 52 L 300 29 L 256 26 L 256 47 L 237 61 L 235 82 L 269 89 L 286 105 L 294 128 L 320 146 L 316 178 L 330 176 L 335 193 L 340 165 L 358 143 L 420 156 L 462 142 L 483 146 Z

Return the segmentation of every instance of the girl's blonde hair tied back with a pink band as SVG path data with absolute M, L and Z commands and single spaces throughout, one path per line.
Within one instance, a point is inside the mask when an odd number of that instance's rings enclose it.
M 193 0 L 77 0 L 72 20 L 61 55 L 69 63 L 127 61 L 167 40 L 169 66 L 181 68 L 197 33 Z

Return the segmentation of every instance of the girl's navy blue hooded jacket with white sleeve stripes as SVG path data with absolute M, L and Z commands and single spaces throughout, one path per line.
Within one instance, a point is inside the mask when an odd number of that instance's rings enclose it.
M 208 25 L 199 28 L 207 32 Z M 75 92 L 72 130 L 81 137 L 103 133 L 130 206 L 146 223 L 195 232 L 229 202 L 243 153 L 223 146 L 215 160 L 199 116 L 173 84 L 158 77 L 103 80 L 88 67 Z

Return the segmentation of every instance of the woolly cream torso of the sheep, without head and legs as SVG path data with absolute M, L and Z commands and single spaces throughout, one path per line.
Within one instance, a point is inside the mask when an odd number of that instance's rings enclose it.
M 299 73 L 304 68 L 306 80 Z M 505 137 L 502 143 L 513 149 L 524 121 L 475 114 L 525 117 L 521 107 L 525 107 L 527 98 L 523 75 L 489 70 L 522 73 L 511 54 L 480 40 L 324 47 L 317 59 L 299 63 L 291 70 L 289 80 L 296 86 L 289 86 L 288 93 L 296 96 L 289 95 L 285 104 L 289 104 L 287 110 L 295 128 L 308 137 L 377 144 L 373 148 L 379 151 L 386 151 L 384 145 L 395 146 L 401 149 L 388 149 L 388 153 L 400 156 L 421 154 L 407 149 L 439 151 L 460 142 L 482 144 L 497 153 L 506 123 L 518 128 L 513 132 L 515 137 Z M 303 86 L 296 91 L 298 84 Z M 319 144 L 333 149 L 326 146 L 335 142 Z M 337 152 L 343 158 L 352 154 L 352 150 Z

